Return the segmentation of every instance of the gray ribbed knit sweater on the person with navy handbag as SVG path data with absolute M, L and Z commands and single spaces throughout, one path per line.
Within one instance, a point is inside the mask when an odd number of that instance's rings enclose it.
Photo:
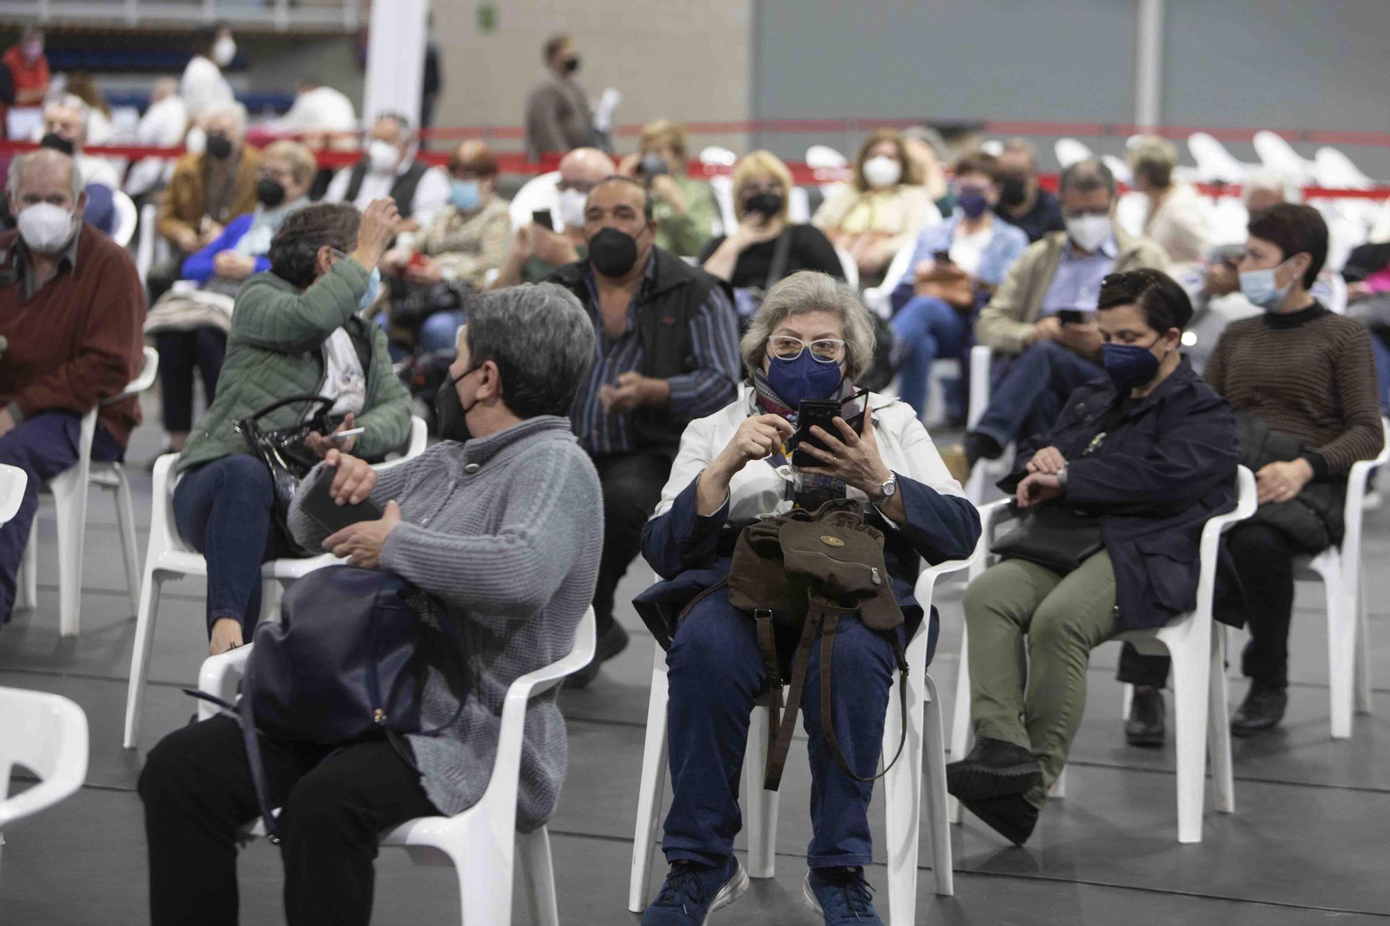
M 425 794 L 452 816 L 488 787 L 507 687 L 574 644 L 603 549 L 598 474 L 569 419 L 541 416 L 467 444 L 438 444 L 384 470 L 371 498 L 400 505 L 382 569 L 443 603 L 424 619 L 452 635 L 466 659 L 466 680 L 453 677 L 455 660 L 431 659 L 421 705 L 421 727 L 432 729 L 457 710 L 453 692 L 466 692 L 457 722 L 439 736 L 409 737 Z M 317 546 L 325 535 L 300 510 L 302 499 L 291 505 L 291 530 Z M 564 781 L 569 748 L 555 695 L 552 688 L 527 709 L 523 831 L 549 819 Z

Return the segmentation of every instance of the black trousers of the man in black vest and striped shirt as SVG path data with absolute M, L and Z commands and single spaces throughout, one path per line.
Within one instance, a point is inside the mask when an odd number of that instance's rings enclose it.
M 594 617 L 599 635 L 613 626 L 613 592 L 642 549 L 642 526 L 662 501 L 671 474 L 666 450 L 631 450 L 594 457 L 603 487 L 603 556 L 594 590 Z

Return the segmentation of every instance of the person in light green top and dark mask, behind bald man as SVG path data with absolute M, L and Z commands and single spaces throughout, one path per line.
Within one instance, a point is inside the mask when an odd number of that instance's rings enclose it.
M 685 172 L 685 127 L 656 120 L 642 127 L 641 149 L 617 172 L 648 185 L 656 200 L 656 246 L 677 257 L 696 257 L 714 235 L 719 203 L 709 184 Z

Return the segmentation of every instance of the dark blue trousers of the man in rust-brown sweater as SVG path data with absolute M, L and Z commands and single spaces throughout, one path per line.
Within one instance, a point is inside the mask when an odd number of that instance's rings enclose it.
M 71 412 L 44 412 L 25 419 L 13 431 L 0 437 L 0 463 L 17 466 L 29 477 L 24 485 L 19 510 L 0 527 L 0 624 L 10 620 L 15 577 L 24 548 L 29 544 L 29 530 L 39 510 L 39 487 L 78 462 L 78 441 L 82 420 Z M 120 460 L 125 448 L 117 444 L 104 425 L 96 425 L 92 439 L 93 460 Z

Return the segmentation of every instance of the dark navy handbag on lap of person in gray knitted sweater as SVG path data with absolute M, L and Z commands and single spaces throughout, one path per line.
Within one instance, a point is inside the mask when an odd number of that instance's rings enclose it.
M 278 623 L 256 627 L 236 705 L 185 688 L 242 724 L 252 783 L 272 843 L 279 838 L 257 734 L 318 745 L 386 737 L 414 766 L 399 737 L 434 736 L 457 722 L 463 698 L 448 722 L 428 730 L 420 726 L 425 653 L 450 653 L 457 677 L 463 673 L 461 653 L 450 641 L 424 645 L 448 635 L 420 620 L 420 609 L 432 608 L 430 601 L 395 573 L 357 566 L 314 570 L 285 592 Z

